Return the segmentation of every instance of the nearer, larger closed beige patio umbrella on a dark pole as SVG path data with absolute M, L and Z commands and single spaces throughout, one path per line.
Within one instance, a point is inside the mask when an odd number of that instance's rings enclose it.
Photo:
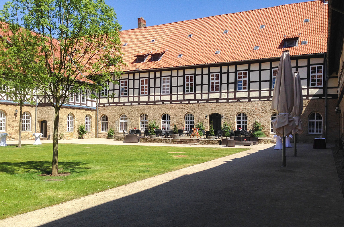
M 271 103 L 271 109 L 278 113 L 272 121 L 273 132 L 283 139 L 282 166 L 286 166 L 286 136 L 289 136 L 296 126 L 290 114 L 294 106 L 293 80 L 289 51 L 285 50 L 278 65 Z

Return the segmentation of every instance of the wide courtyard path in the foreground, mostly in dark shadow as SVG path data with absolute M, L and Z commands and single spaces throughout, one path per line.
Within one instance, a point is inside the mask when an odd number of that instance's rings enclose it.
M 0 221 L 0 226 L 343 226 L 331 149 L 273 145 Z

